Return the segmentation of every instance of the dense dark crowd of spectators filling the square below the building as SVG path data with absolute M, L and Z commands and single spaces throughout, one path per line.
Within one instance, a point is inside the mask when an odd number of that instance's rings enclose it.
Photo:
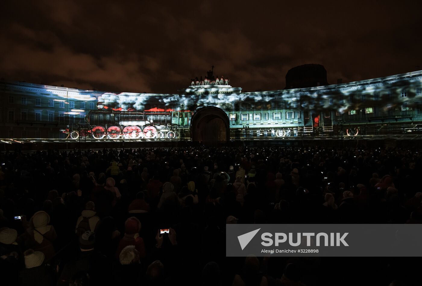
M 422 223 L 417 148 L 48 150 L 0 162 L 2 285 L 397 286 L 421 266 L 225 257 L 226 224 Z

